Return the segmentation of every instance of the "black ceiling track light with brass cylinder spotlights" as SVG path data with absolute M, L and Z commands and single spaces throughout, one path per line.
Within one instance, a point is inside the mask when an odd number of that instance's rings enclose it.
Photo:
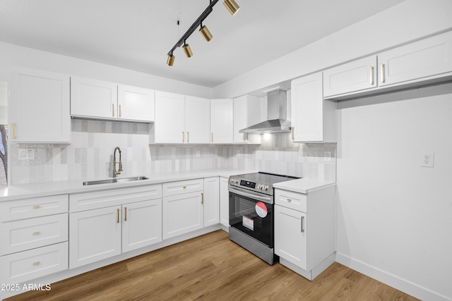
M 191 49 L 189 47 L 189 44 L 186 44 L 186 39 L 188 39 L 191 34 L 196 30 L 196 28 L 199 28 L 199 32 L 201 35 L 203 35 L 204 39 L 206 39 L 207 42 L 210 41 L 210 39 L 213 38 L 213 35 L 210 33 L 206 25 L 203 25 L 203 20 L 209 16 L 209 14 L 213 11 L 213 6 L 217 4 L 218 0 L 210 0 L 209 6 L 201 13 L 201 16 L 199 16 L 196 21 L 190 26 L 190 28 L 184 33 L 184 35 L 177 41 L 177 43 L 172 47 L 171 50 L 168 52 L 168 59 L 167 59 L 167 65 L 172 66 L 174 64 L 174 58 L 175 56 L 172 54 L 173 51 L 177 47 L 181 47 L 184 49 L 184 52 L 187 57 L 193 56 L 193 53 L 191 52 Z M 240 6 L 237 5 L 235 0 L 224 0 L 223 4 L 227 8 L 227 11 L 231 13 L 232 16 L 239 11 Z M 179 20 L 177 21 L 177 25 L 179 25 Z

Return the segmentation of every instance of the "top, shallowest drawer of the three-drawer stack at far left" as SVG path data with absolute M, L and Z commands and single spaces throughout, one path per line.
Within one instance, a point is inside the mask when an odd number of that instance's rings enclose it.
M 0 202 L 0 221 L 30 219 L 68 211 L 68 195 L 33 197 Z

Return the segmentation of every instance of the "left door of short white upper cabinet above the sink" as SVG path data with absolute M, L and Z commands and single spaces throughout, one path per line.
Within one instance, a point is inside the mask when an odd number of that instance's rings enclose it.
M 71 116 L 116 119 L 117 102 L 114 82 L 71 77 Z

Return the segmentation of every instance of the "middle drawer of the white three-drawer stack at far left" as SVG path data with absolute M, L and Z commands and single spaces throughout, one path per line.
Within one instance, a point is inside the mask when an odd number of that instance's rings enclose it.
M 68 214 L 0 223 L 0 255 L 44 247 L 68 240 Z

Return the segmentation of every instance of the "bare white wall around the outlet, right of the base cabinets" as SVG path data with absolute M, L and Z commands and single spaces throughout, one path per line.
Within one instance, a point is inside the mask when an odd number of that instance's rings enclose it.
M 338 103 L 338 262 L 422 300 L 452 300 L 451 116 L 452 83 Z

